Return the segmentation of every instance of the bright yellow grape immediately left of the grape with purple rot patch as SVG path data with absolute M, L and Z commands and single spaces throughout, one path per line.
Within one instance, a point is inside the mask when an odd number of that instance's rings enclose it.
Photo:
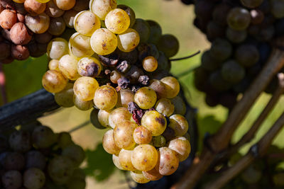
M 60 58 L 58 67 L 61 71 L 61 73 L 67 77 L 67 79 L 70 79 L 72 81 L 75 81 L 80 77 L 80 75 L 77 72 L 77 59 L 74 59 L 70 55 L 64 55 Z

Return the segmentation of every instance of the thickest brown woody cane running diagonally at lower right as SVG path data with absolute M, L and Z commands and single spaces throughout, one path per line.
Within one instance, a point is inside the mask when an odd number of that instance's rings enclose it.
M 251 84 L 249 89 L 244 93 L 244 96 L 241 98 L 239 103 L 237 103 L 231 110 L 222 127 L 216 134 L 208 138 L 207 144 L 211 147 L 204 147 L 199 163 L 192 164 L 182 179 L 180 179 L 173 188 L 185 189 L 195 187 L 203 173 L 207 171 L 207 168 L 209 168 L 212 161 L 214 161 L 215 156 L 217 156 L 219 152 L 226 150 L 229 146 L 232 135 L 238 128 L 241 121 L 246 117 L 246 114 L 251 109 L 253 103 L 264 91 L 266 86 L 268 86 L 269 82 L 273 79 L 273 76 L 280 71 L 283 66 L 284 52 L 275 48 L 270 59 L 266 62 L 266 66 L 263 67 L 260 74 L 258 74 L 256 79 L 253 81 L 253 84 Z

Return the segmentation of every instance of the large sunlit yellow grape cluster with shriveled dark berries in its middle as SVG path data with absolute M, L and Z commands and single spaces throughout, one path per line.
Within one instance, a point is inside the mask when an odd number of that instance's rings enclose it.
M 48 44 L 43 87 L 62 107 L 94 108 L 93 125 L 109 129 L 104 149 L 137 183 L 174 173 L 190 154 L 186 105 L 169 74 L 178 40 L 115 0 L 90 1 L 74 26 L 69 42 Z

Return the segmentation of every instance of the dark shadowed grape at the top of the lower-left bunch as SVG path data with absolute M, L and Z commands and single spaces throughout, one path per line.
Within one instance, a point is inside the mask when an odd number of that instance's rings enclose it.
M 35 127 L 32 134 L 33 144 L 39 149 L 45 149 L 55 143 L 56 137 L 50 127 L 39 126 Z

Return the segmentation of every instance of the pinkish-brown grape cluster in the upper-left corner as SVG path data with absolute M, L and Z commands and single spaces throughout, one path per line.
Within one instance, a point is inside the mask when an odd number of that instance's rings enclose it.
M 74 33 L 75 15 L 89 0 L 1 0 L 0 63 L 44 55 L 56 36 Z

